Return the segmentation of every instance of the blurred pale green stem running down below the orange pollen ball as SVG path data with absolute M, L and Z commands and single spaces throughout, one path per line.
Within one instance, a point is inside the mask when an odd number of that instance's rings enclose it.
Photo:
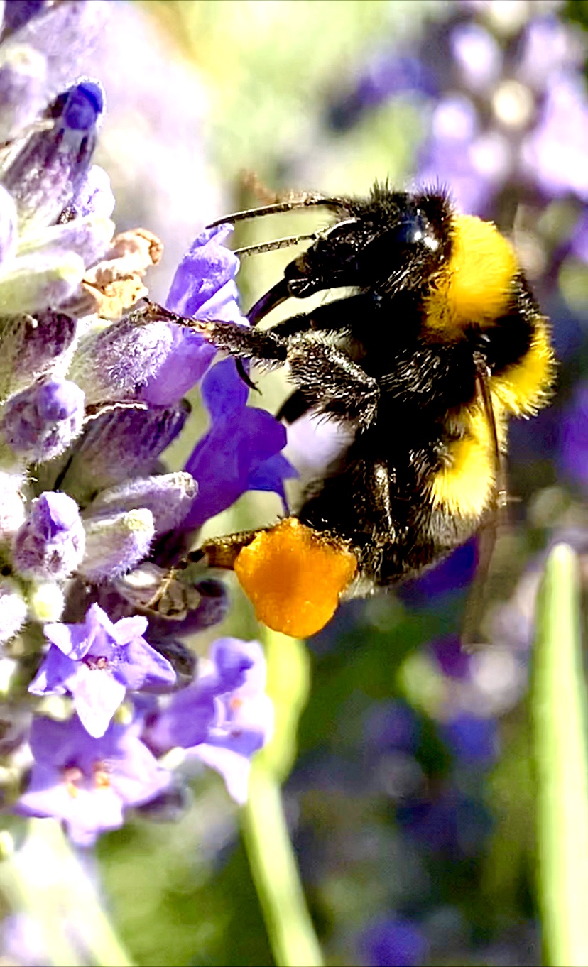
M 251 763 L 243 833 L 276 963 L 321 967 L 279 789 L 295 757 L 298 719 L 309 692 L 309 657 L 304 642 L 275 631 L 266 632 L 265 642 L 276 722 L 272 741 Z

